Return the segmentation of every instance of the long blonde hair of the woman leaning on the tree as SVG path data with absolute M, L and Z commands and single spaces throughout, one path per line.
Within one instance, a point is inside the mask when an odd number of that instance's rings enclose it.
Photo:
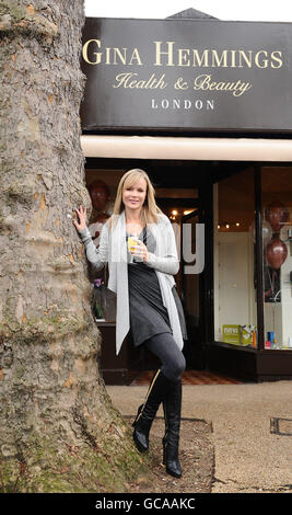
M 117 219 L 117 216 L 121 214 L 124 210 L 124 203 L 122 203 L 122 192 L 125 188 L 132 186 L 137 181 L 140 179 L 144 179 L 147 182 L 147 195 L 145 201 L 142 207 L 141 213 L 141 221 L 143 225 L 145 224 L 157 224 L 157 214 L 162 213 L 155 202 L 155 190 L 144 170 L 140 168 L 135 168 L 132 170 L 128 170 L 119 181 L 117 195 L 114 204 L 113 209 L 113 219 Z M 109 220 L 109 227 L 112 226 L 112 217 Z

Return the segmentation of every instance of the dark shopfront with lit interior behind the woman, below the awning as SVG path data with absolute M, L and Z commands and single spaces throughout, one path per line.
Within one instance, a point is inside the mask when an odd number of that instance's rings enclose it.
M 87 158 L 85 180 L 93 203 L 89 227 L 96 245 L 113 213 L 118 182 L 131 168 L 149 173 L 156 203 L 174 225 L 182 263 L 175 278 L 188 330 L 187 368 L 212 370 L 211 345 L 245 354 L 291 352 L 292 169 L 275 163 Z M 203 225 L 205 233 L 203 267 L 188 275 L 183 273 L 189 265 L 184 253 L 185 225 L 191 228 L 194 256 L 198 225 Z M 129 384 L 141 370 L 155 368 L 156 362 L 144 350 L 133 350 L 130 335 L 120 355 L 115 355 L 115 296 L 106 288 L 107 270 L 94 275 L 89 270 L 89 275 L 104 342 L 105 381 Z M 237 356 L 246 363 L 243 353 Z M 229 375 L 246 371 L 244 366 L 227 367 Z

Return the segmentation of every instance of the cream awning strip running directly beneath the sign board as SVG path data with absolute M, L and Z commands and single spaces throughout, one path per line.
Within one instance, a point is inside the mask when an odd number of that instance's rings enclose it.
M 292 140 L 82 135 L 87 158 L 292 161 Z

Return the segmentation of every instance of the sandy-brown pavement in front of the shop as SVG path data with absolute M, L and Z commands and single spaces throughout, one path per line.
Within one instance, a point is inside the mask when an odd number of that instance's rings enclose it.
M 106 389 L 122 415 L 136 414 L 148 391 L 147 386 Z M 213 493 L 292 493 L 291 380 L 184 385 L 182 416 L 212 425 Z

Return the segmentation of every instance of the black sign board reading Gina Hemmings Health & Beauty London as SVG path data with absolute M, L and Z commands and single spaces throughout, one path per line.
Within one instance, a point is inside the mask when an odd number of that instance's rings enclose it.
M 292 130 L 292 24 L 87 18 L 83 130 Z

